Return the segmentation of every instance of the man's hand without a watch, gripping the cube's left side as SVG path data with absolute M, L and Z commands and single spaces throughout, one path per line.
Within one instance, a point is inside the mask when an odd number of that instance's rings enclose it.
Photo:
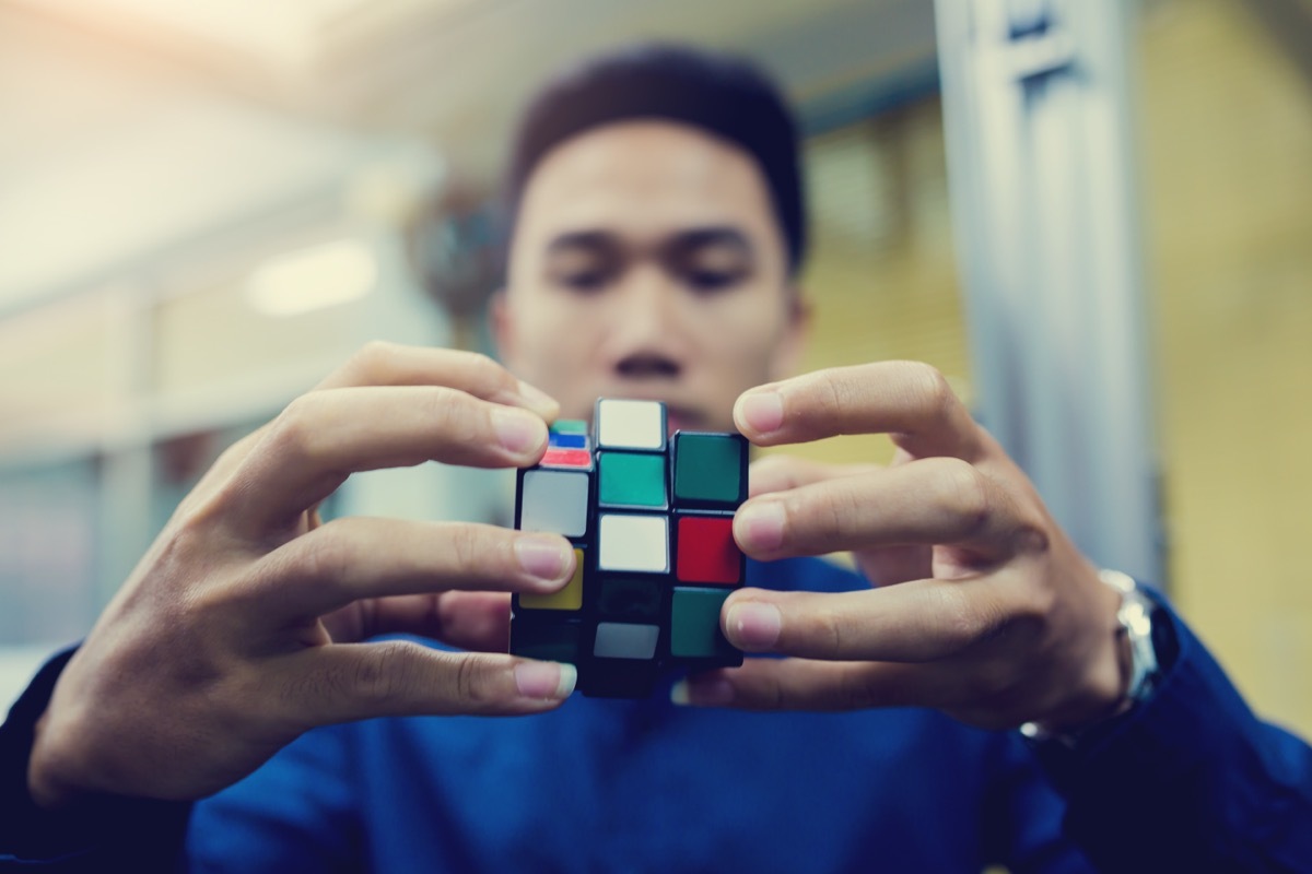
M 315 512 L 357 470 L 534 464 L 556 413 L 483 355 L 388 345 L 293 401 L 215 463 L 68 663 L 37 726 L 33 798 L 198 798 L 314 726 L 559 705 L 568 666 L 497 650 L 506 592 L 559 590 L 568 541 Z M 398 632 L 485 651 L 362 642 Z

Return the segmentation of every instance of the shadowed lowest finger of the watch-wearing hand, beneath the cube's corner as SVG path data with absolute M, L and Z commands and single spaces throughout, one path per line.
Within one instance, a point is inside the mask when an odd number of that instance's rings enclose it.
M 744 710 L 865 710 L 933 706 L 938 677 L 916 664 L 748 659 L 743 667 L 689 676 L 676 704 Z

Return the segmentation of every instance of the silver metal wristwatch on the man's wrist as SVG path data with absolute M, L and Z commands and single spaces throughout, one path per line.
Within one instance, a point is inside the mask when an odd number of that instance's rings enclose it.
M 1143 592 L 1130 574 L 1119 570 L 1101 570 L 1098 579 L 1120 592 L 1117 611 L 1117 636 L 1126 636 L 1130 643 L 1130 684 L 1126 688 L 1128 708 L 1115 715 L 1072 731 L 1048 731 L 1036 722 L 1021 726 L 1021 734 L 1034 743 L 1057 743 L 1075 750 L 1092 734 L 1102 734 L 1124 714 L 1152 697 L 1161 684 L 1166 668 L 1174 662 L 1176 643 L 1170 617 L 1165 609 Z

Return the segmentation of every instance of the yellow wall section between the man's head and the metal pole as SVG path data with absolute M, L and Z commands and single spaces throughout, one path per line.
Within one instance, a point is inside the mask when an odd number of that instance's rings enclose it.
M 813 249 L 802 284 L 812 324 L 802 372 L 924 360 L 968 401 L 939 102 L 918 101 L 815 138 L 806 165 Z M 786 451 L 883 463 L 892 446 L 836 438 Z

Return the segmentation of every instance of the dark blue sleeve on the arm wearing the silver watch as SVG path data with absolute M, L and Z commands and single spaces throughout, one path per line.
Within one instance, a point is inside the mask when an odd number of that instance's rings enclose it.
M 1067 835 L 1109 871 L 1312 871 L 1312 748 L 1166 609 L 1178 651 L 1153 697 L 1090 744 L 1039 746 Z

